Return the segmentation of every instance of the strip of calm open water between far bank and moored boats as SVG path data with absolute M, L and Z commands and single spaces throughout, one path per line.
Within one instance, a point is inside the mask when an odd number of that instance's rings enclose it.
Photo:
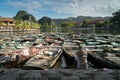
M 71 34 L 120 34 L 120 29 L 93 29 L 93 28 L 66 28 L 66 27 L 56 27 L 56 28 L 40 28 L 37 31 L 38 33 L 71 33 Z M 0 32 L 10 35 L 11 31 L 9 32 Z M 25 34 L 22 30 L 21 31 L 14 31 L 13 34 Z M 30 32 L 29 32 L 30 33 Z M 31 32 L 33 33 L 33 32 Z M 0 35 L 1 36 L 1 35 Z

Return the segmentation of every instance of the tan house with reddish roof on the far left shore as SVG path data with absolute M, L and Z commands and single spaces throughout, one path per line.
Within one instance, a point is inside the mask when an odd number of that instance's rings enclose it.
M 13 26 L 14 25 L 14 19 L 13 18 L 3 18 L 0 17 L 0 26 Z

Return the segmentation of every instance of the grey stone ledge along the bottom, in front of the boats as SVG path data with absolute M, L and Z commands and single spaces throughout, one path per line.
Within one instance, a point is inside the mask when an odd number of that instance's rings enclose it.
M 0 69 L 0 80 L 120 80 L 120 70 L 108 69 Z

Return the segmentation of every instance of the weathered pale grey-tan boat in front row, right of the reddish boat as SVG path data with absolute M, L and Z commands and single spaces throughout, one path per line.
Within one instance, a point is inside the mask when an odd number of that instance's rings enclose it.
M 59 44 L 53 43 L 49 48 L 39 51 L 39 53 L 31 57 L 24 65 L 24 68 L 50 69 L 61 57 L 62 48 L 57 47 Z

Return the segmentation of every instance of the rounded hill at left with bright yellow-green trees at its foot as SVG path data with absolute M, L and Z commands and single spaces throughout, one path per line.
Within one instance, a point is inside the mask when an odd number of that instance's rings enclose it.
M 32 14 L 28 14 L 26 11 L 19 11 L 16 16 L 14 16 L 14 19 L 14 27 L 17 29 L 40 28 L 36 18 Z

